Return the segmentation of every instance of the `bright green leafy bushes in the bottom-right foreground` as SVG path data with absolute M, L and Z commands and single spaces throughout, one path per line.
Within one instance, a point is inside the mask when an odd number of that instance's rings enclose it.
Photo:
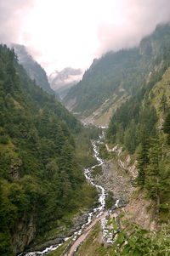
M 119 217 L 122 219 L 123 214 Z M 167 256 L 170 253 L 169 227 L 165 225 L 158 233 L 144 230 L 139 225 L 122 220 L 120 229 L 116 219 L 111 219 L 109 224 L 113 225 L 116 242 L 112 247 L 112 253 L 108 255 L 156 255 Z

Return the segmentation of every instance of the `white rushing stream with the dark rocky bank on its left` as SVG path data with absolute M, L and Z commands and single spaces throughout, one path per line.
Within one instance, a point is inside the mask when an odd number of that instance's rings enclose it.
M 101 137 L 102 138 L 102 137 Z M 36 255 L 44 255 L 46 253 L 49 253 L 53 250 L 55 250 L 57 247 L 59 247 L 63 242 L 65 242 L 69 237 L 75 236 L 75 240 L 79 238 L 79 236 L 82 234 L 83 230 L 85 230 L 86 226 L 88 226 L 93 218 L 94 220 L 99 218 L 99 216 L 103 215 L 105 212 L 105 189 L 102 185 L 98 185 L 94 183 L 94 179 L 91 175 L 91 170 L 96 168 L 97 166 L 102 166 L 104 164 L 103 160 L 99 157 L 99 151 L 98 147 L 95 144 L 95 141 L 92 141 L 92 145 L 94 148 L 94 157 L 98 161 L 98 164 L 93 166 L 92 168 L 85 168 L 84 169 L 84 175 L 89 183 L 94 185 L 97 190 L 99 191 L 99 200 L 98 200 L 98 206 L 94 207 L 93 209 L 88 209 L 88 212 L 84 212 L 82 214 L 79 214 L 79 217 L 75 217 L 72 219 L 74 221 L 74 226 L 68 230 L 64 229 L 62 230 L 62 227 L 60 228 L 61 233 L 56 233 L 55 236 L 53 236 L 53 239 L 48 239 L 48 237 L 44 237 L 44 242 L 41 242 L 39 246 L 32 248 L 29 248 L 28 253 L 20 253 L 20 256 L 26 255 L 26 256 L 36 256 Z M 31 252 L 32 250 L 32 252 Z M 33 251 L 34 250 L 34 251 Z

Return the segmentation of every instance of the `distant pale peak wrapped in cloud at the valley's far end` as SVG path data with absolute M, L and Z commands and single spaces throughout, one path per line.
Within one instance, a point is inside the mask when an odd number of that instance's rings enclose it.
M 82 70 L 66 67 L 62 71 L 54 71 L 49 77 L 51 88 L 64 98 L 70 88 L 82 79 Z

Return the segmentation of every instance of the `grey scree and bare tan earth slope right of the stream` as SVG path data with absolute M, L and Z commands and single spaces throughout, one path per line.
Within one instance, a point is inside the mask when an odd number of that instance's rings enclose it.
M 113 191 L 114 196 L 120 196 L 124 199 L 128 199 L 125 210 L 125 218 L 141 225 L 144 229 L 156 230 L 156 221 L 153 220 L 155 215 L 151 200 L 146 200 L 144 191 L 137 191 L 131 185 L 131 180 L 135 179 L 138 175 L 136 168 L 137 161 L 131 163 L 131 156 L 127 155 L 124 160 L 121 159 L 122 148 L 116 145 L 110 149 L 108 145 L 105 145 L 107 151 L 115 151 L 117 160 L 116 165 L 114 162 L 106 162 L 104 166 L 104 180 L 105 185 L 109 190 Z M 111 167 L 112 165 L 112 167 Z M 126 177 L 125 173 L 128 172 Z M 131 178 L 130 178 L 131 176 Z

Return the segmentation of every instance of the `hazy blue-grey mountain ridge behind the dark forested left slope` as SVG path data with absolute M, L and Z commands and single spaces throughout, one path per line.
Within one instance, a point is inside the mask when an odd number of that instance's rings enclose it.
M 48 83 L 48 77 L 46 72 L 43 70 L 42 66 L 35 61 L 31 54 L 29 54 L 24 45 L 12 44 L 14 52 L 18 56 L 18 60 L 21 65 L 24 66 L 26 73 L 32 80 L 37 82 L 37 85 L 42 88 L 48 94 L 56 94 Z M 57 99 L 59 100 L 59 95 L 56 94 Z

